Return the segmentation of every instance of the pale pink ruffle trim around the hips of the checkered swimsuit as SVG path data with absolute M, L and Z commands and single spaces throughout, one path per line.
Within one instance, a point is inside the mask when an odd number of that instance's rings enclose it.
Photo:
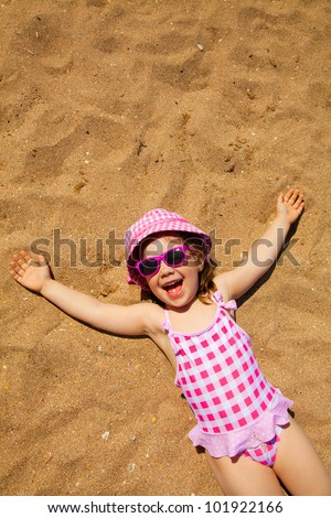
M 189 438 L 194 446 L 204 447 L 213 457 L 234 457 L 274 439 L 276 425 L 285 427 L 289 423 L 288 409 L 292 403 L 277 390 L 270 408 L 257 422 L 237 431 L 217 434 L 202 432 L 196 425 L 189 432 Z

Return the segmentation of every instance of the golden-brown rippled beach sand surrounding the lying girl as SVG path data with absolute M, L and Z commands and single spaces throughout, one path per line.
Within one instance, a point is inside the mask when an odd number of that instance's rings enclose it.
M 8 262 L 44 250 L 60 281 L 138 302 L 122 237 L 142 213 L 181 213 L 231 268 L 288 186 L 307 208 L 237 321 L 331 468 L 330 11 L 1 0 L 1 495 L 222 494 L 157 347 L 70 319 Z

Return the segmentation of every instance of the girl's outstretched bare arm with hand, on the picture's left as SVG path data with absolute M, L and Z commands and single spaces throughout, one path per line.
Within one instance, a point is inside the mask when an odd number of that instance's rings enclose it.
M 52 279 L 44 257 L 39 256 L 36 262 L 24 250 L 13 256 L 10 268 L 11 277 L 20 284 L 40 293 L 74 319 L 117 335 L 149 334 L 149 304 L 104 304 Z

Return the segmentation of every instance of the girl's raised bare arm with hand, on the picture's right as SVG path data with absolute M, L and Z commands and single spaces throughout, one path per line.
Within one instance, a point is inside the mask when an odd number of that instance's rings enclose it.
M 305 207 L 303 194 L 290 188 L 277 198 L 277 216 L 266 233 L 253 242 L 246 262 L 216 276 L 215 284 L 224 299 L 238 299 L 266 273 L 278 257 L 290 226 L 299 218 Z

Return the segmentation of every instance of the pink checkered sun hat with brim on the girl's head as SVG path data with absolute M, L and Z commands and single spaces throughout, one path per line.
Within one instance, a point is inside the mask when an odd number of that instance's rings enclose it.
M 129 272 L 128 282 L 139 284 L 143 289 L 148 288 L 146 280 L 139 274 L 138 270 L 134 266 L 135 260 L 132 258 L 132 253 L 135 248 L 147 236 L 161 231 L 188 233 L 201 237 L 204 241 L 206 255 L 209 255 L 212 248 L 210 236 L 192 225 L 180 214 L 166 211 L 164 208 L 154 208 L 153 211 L 149 211 L 126 231 L 125 247 L 127 255 L 127 269 Z

